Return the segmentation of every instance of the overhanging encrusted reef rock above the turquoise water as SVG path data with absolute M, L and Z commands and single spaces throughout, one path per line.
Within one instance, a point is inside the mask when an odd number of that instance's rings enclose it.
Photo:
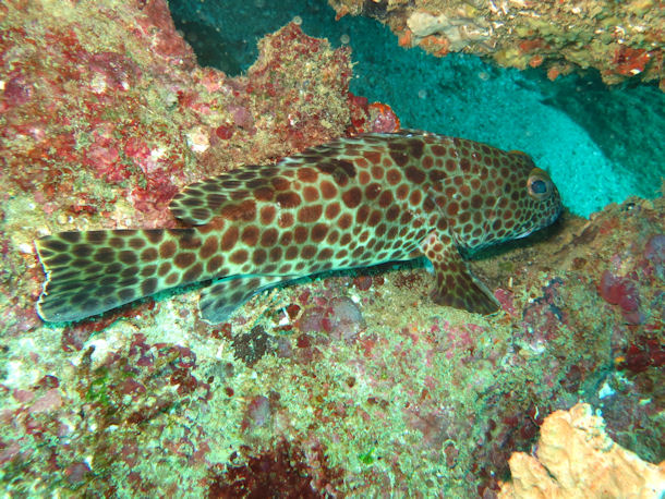
M 657 81 L 665 90 L 661 5 L 653 0 L 329 0 L 338 16 L 386 23 L 402 47 L 438 57 L 463 51 L 551 78 L 595 68 L 607 84 Z

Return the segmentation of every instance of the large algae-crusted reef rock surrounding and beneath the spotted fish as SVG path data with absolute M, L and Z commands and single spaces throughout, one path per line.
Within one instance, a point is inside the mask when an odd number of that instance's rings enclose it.
M 195 288 L 43 324 L 39 235 L 174 227 L 192 181 L 399 120 L 348 93 L 348 49 L 293 24 L 233 78 L 196 64 L 164 0 L 11 0 L 0 27 L 9 495 L 494 497 L 578 399 L 663 459 L 663 198 L 474 255 L 493 316 L 432 304 L 414 263 L 273 290 L 218 326 Z

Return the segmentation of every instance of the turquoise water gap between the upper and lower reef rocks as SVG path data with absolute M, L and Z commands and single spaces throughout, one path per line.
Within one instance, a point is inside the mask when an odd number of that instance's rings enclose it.
M 303 31 L 353 49 L 351 92 L 388 104 L 402 126 L 529 153 L 565 205 L 589 216 L 630 195 L 654 197 L 665 175 L 665 96 L 649 85 L 607 88 L 596 72 L 549 82 L 541 70 L 497 68 L 474 56 L 439 59 L 406 50 L 378 22 L 346 16 L 322 0 L 169 2 L 202 64 L 246 70 L 256 41 L 294 16 Z

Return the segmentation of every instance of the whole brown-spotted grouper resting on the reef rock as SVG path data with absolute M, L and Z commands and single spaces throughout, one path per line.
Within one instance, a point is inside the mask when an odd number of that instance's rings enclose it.
M 304 276 L 423 255 L 434 303 L 487 315 L 499 303 L 464 253 L 551 224 L 561 200 L 524 153 L 403 130 L 231 170 L 186 186 L 169 209 L 185 227 L 38 239 L 39 316 L 77 321 L 203 281 L 201 318 L 219 324 Z

